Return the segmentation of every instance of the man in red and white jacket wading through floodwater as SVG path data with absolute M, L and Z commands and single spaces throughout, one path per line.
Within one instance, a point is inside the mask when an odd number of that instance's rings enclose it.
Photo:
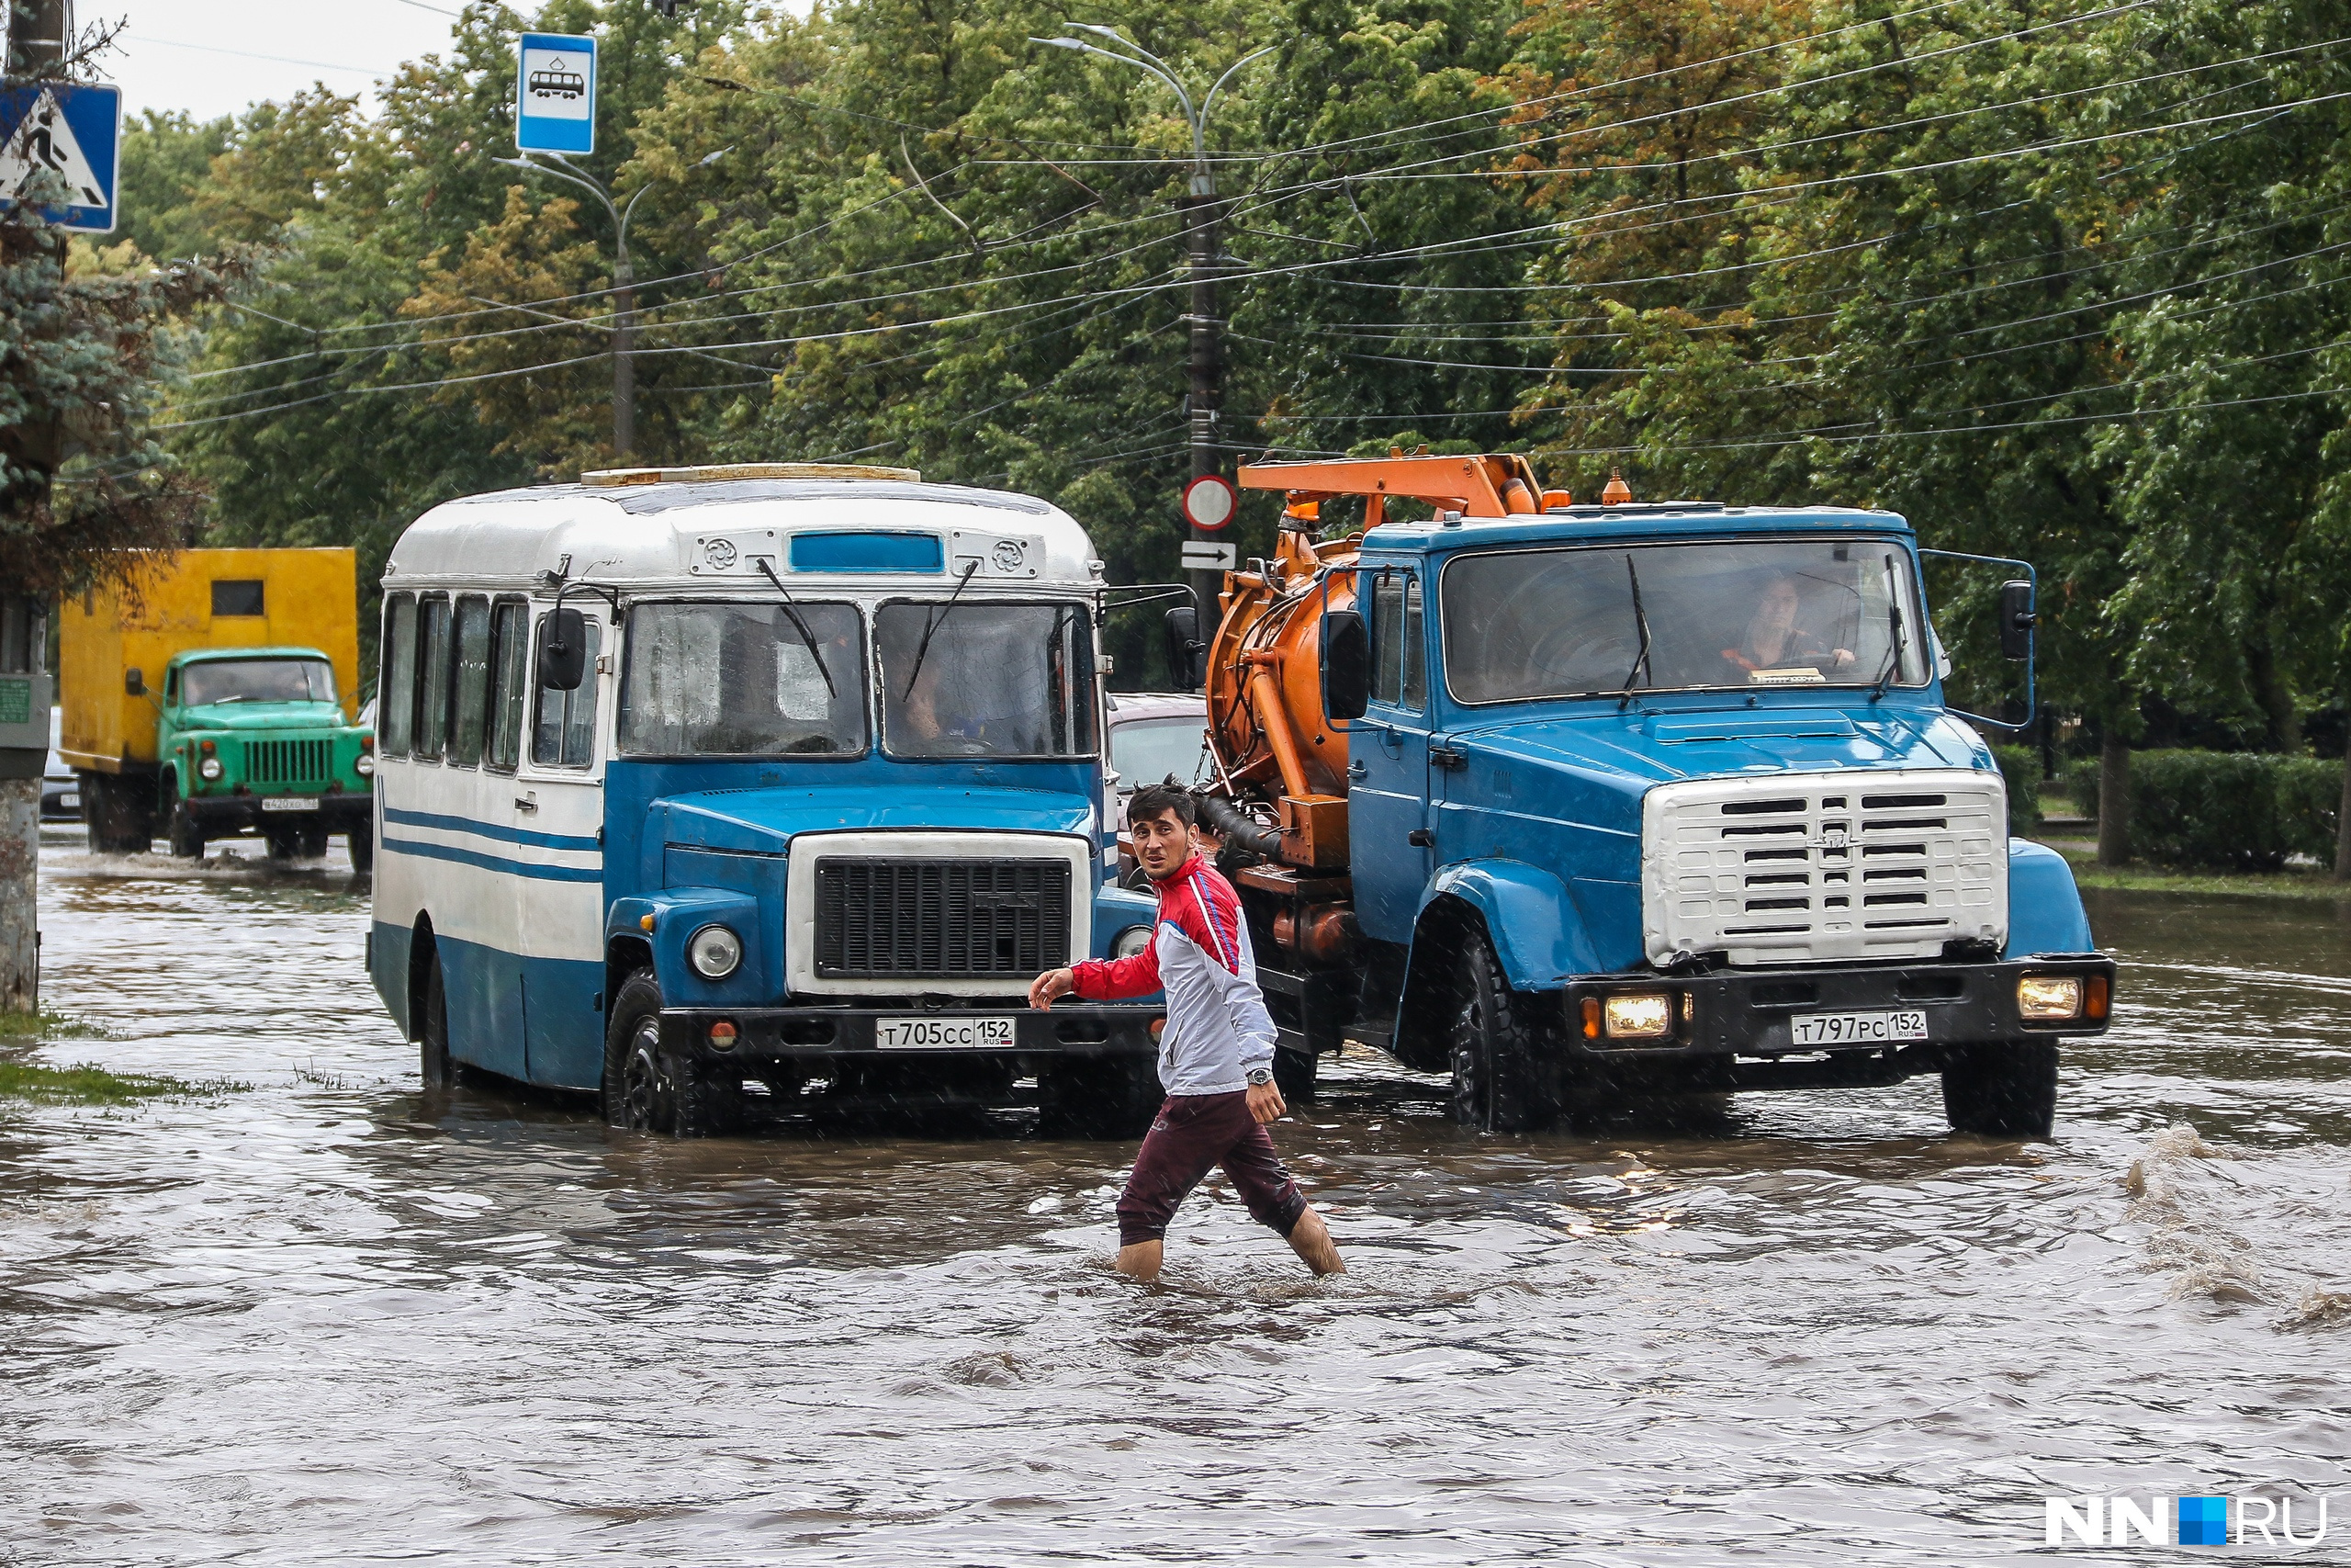
M 1126 806 L 1136 860 L 1159 893 L 1152 945 L 1131 959 L 1049 969 L 1030 983 L 1030 1006 L 1077 992 L 1089 1001 L 1164 990 L 1159 1084 L 1168 1091 L 1119 1194 L 1119 1272 L 1157 1279 L 1168 1220 L 1185 1194 L 1225 1166 L 1262 1225 L 1279 1229 L 1317 1274 L 1345 1274 L 1331 1229 L 1281 1168 L 1265 1124 L 1288 1107 L 1274 1088 L 1274 1020 L 1258 994 L 1241 898 L 1192 853 L 1192 795 L 1136 790 Z

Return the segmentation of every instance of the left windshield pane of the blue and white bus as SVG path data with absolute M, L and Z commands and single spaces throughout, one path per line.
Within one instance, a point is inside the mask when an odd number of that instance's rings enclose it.
M 865 750 L 863 623 L 851 604 L 637 604 L 628 611 L 618 750 L 745 757 Z

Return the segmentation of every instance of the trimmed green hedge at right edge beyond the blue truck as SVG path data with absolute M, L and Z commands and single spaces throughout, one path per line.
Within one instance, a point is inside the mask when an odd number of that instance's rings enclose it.
M 2097 757 L 2064 769 L 2097 813 Z M 2344 764 L 2269 752 L 2132 752 L 2130 849 L 2161 865 L 2273 872 L 2288 856 L 2335 865 Z

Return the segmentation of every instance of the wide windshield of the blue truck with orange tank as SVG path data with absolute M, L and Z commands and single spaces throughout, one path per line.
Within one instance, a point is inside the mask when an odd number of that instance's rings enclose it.
M 1883 538 L 1465 555 L 1444 616 L 1462 703 L 1925 684 L 1909 555 Z

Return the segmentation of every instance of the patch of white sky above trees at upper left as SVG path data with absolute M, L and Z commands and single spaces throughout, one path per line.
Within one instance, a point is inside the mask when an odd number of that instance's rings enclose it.
M 400 61 L 447 49 L 456 0 L 75 0 L 75 21 L 127 19 L 99 68 L 122 113 L 197 120 L 287 99 L 313 82 L 367 92 Z

